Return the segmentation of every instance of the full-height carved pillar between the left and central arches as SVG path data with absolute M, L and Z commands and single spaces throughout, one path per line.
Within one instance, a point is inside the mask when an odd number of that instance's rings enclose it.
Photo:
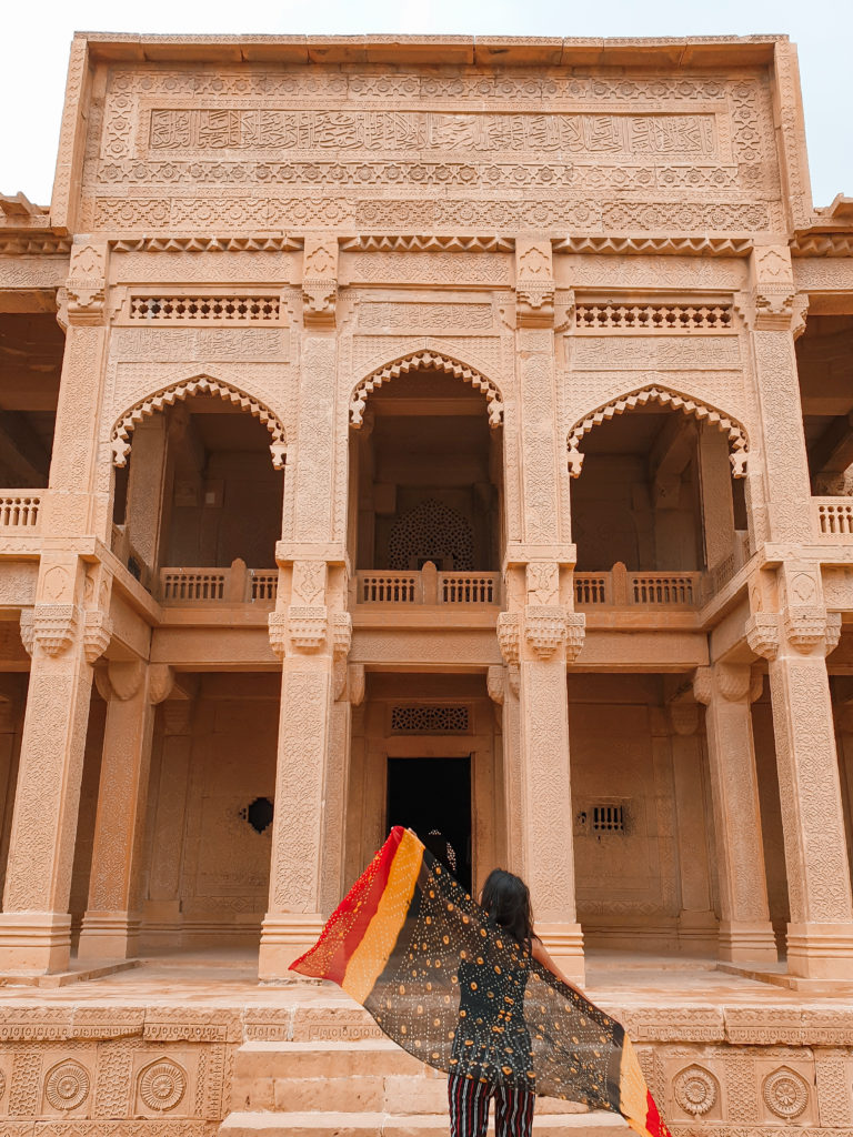
M 262 979 L 288 974 L 289 964 L 318 936 L 324 906 L 340 887 L 340 833 L 333 849 L 323 849 L 336 823 L 332 814 L 340 819 L 346 800 L 337 779 L 346 782 L 340 763 L 347 754 L 334 748 L 340 748 L 341 732 L 349 733 L 348 711 L 334 711 L 351 638 L 346 611 L 347 407 L 337 393 L 337 238 L 307 234 L 296 463 L 284 483 L 279 592 L 270 616 L 282 683 Z

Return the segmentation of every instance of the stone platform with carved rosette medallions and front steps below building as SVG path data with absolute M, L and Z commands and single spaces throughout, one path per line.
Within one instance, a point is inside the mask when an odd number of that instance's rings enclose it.
M 444 1079 L 337 988 L 262 986 L 254 956 L 146 958 L 0 988 L 3 1137 L 441 1137 Z M 853 986 L 789 990 L 712 961 L 588 956 L 676 1137 L 853 1134 Z M 620 1118 L 543 1099 L 543 1137 Z

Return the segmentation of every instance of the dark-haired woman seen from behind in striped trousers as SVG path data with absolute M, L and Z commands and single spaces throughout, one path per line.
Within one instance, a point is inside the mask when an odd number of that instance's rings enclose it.
M 537 960 L 577 994 L 580 990 L 560 971 L 533 931 L 530 890 L 512 872 L 492 869 L 480 894 L 495 937 L 486 949 L 459 962 L 459 1023 L 454 1038 L 452 1063 L 464 1064 L 465 1073 L 450 1073 L 447 1097 L 452 1137 L 485 1137 L 489 1124 L 489 1101 L 495 1098 L 497 1137 L 528 1137 L 533 1123 L 536 1095 L 517 1088 L 519 1071 L 532 1065 L 530 1031 L 524 1018 L 530 961 Z M 498 935 L 511 937 L 511 969 L 506 969 L 502 996 L 495 998 L 491 977 Z M 463 948 L 464 952 L 464 948 Z M 465 953 L 467 955 L 467 953 Z M 489 997 L 489 996 L 492 997 Z M 512 1070 L 512 1074 L 505 1071 Z

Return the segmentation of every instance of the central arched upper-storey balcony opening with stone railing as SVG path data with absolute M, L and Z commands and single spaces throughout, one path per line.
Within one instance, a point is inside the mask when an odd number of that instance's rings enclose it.
M 350 441 L 356 626 L 494 625 L 502 441 L 486 397 L 455 375 L 424 368 L 371 395 Z

